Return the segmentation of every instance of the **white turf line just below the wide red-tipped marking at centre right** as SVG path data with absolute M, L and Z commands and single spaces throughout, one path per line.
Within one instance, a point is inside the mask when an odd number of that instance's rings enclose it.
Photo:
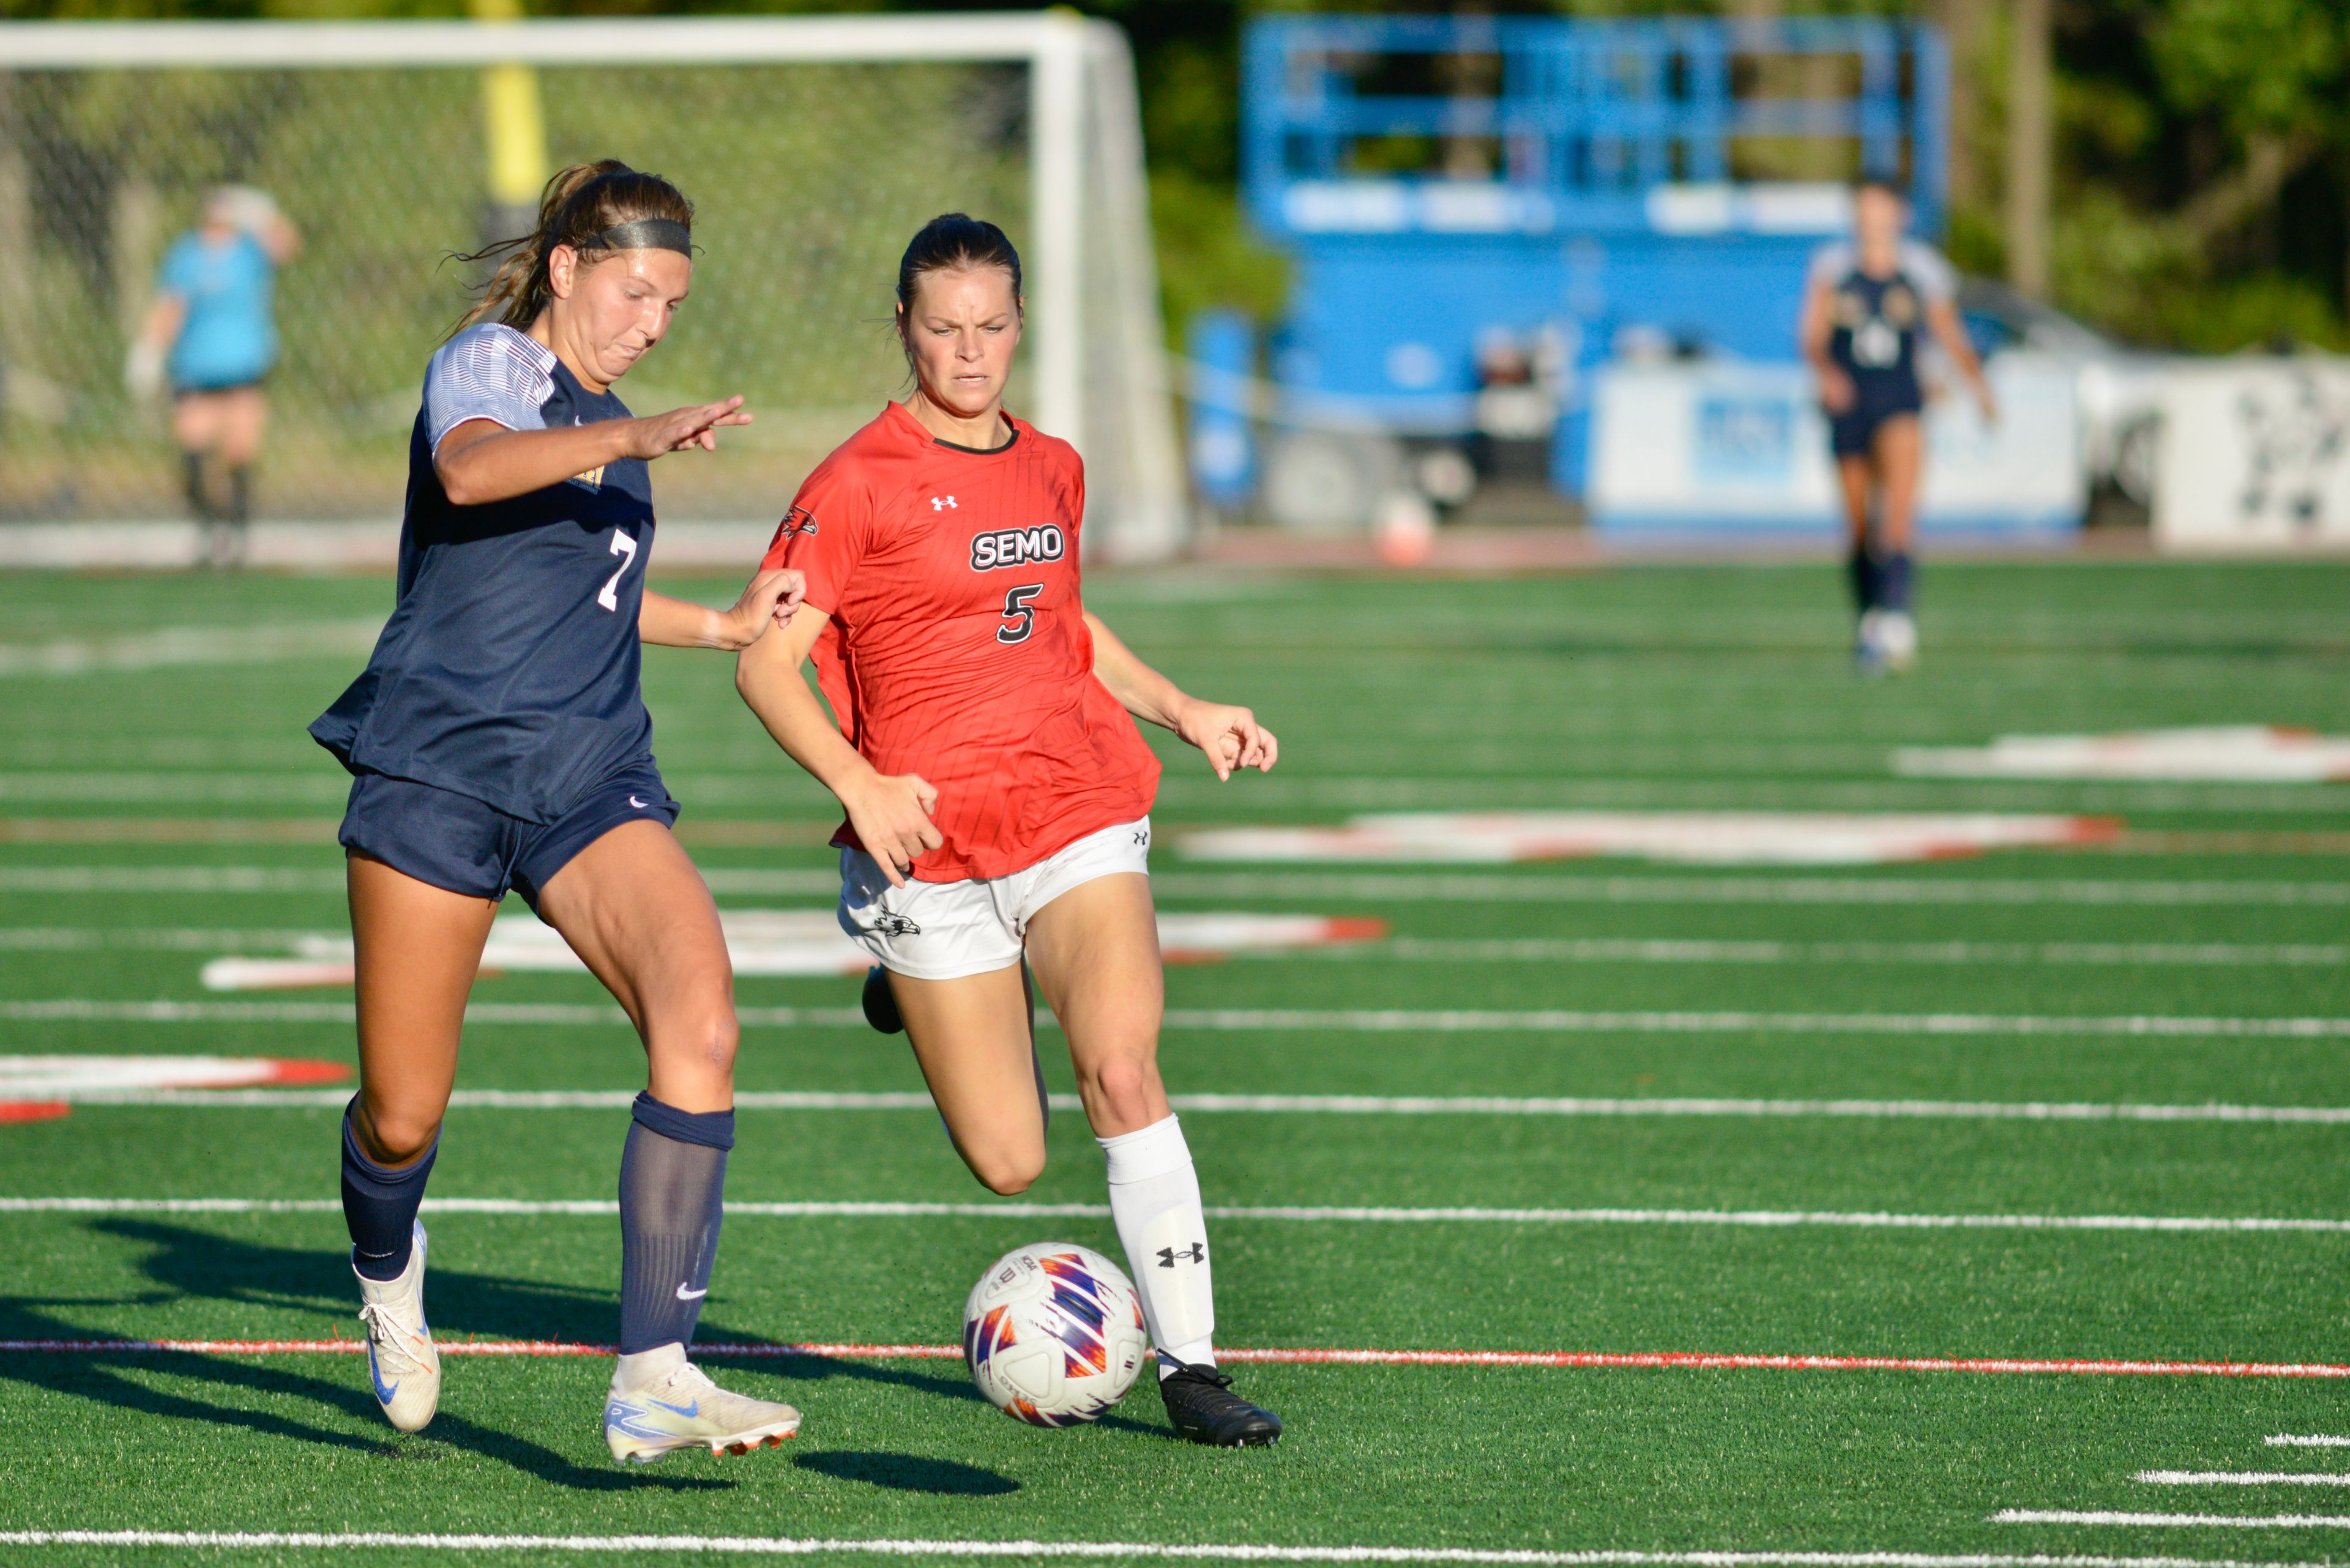
M 703 867 L 714 893 L 837 896 L 832 872 Z M 2350 905 L 2350 882 L 2136 882 L 2080 877 L 1574 877 L 1504 872 L 1163 872 L 1166 898 L 1382 903 L 1805 903 L 1805 905 Z M 5 865 L 0 893 L 343 893 L 341 867 Z

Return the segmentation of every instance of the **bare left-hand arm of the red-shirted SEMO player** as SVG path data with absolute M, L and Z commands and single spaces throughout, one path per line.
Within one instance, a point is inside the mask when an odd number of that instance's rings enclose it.
M 776 736 L 776 745 L 839 797 L 858 842 L 881 863 L 891 886 L 905 886 L 914 858 L 947 842 L 931 820 L 938 790 L 919 773 L 891 776 L 874 769 L 815 701 L 799 668 L 830 618 L 820 609 L 801 609 L 773 637 L 750 644 L 736 658 L 736 691 L 766 724 L 766 733 Z

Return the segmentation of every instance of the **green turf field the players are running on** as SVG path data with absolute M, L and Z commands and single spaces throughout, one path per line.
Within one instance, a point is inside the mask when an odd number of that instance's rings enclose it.
M 343 778 L 301 731 L 388 592 L 0 581 L 0 1056 L 350 1060 L 345 992 L 219 997 L 197 971 L 343 926 Z M 1161 745 L 1161 903 L 1394 931 L 1170 971 L 1170 1088 L 1579 1103 L 1189 1110 L 1208 1204 L 1243 1211 L 1215 1220 L 1222 1345 L 2350 1363 L 2350 1112 L 2113 1110 L 2350 1107 L 2350 783 L 1887 762 L 2000 733 L 2350 733 L 2350 569 L 1939 564 L 1925 665 L 1882 684 L 1849 675 L 1838 595 L 1826 567 L 1093 583 L 1137 651 L 1255 703 L 1283 741 L 1271 778 L 1222 788 Z M 728 663 L 656 651 L 646 670 L 719 903 L 830 905 L 825 799 L 759 736 Z M 1882 867 L 1180 853 L 1184 827 L 1415 809 L 2033 811 L 2120 818 L 2124 837 Z M 642 1086 L 634 1037 L 580 1011 L 602 1001 L 585 976 L 489 978 L 475 999 L 463 1091 Z M 740 1086 L 916 1091 L 902 1041 L 839 1023 L 853 999 L 846 978 L 745 978 Z M 1069 1088 L 1067 1060 L 1048 1074 Z M 0 1126 L 0 1199 L 118 1199 L 0 1211 L 0 1340 L 350 1338 L 334 1126 L 327 1105 L 155 1103 Z M 609 1199 L 623 1131 L 613 1105 L 451 1112 L 435 1199 L 515 1204 L 428 1215 L 444 1340 L 611 1338 L 613 1218 L 531 1206 Z M 1003 1248 L 1116 1251 L 1090 1208 L 989 1199 L 921 1107 L 745 1110 L 728 1197 L 747 1208 L 726 1225 L 710 1342 L 947 1345 Z M 757 1211 L 867 1201 L 1003 1213 Z M 1020 1204 L 1100 1201 L 1081 1119 L 1055 1117 L 1053 1166 Z M 2042 1225 L 1958 1222 L 1986 1218 Z M 2080 1218 L 2103 1222 L 2052 1222 Z M 1264 1363 L 1238 1368 L 1241 1389 L 1288 1436 L 1210 1453 L 1170 1441 L 1147 1389 L 1095 1429 L 1034 1432 L 952 1359 L 712 1366 L 799 1403 L 799 1441 L 618 1472 L 595 1420 L 609 1366 L 585 1356 L 451 1359 L 437 1422 L 404 1439 L 350 1354 L 0 1349 L 0 1533 L 19 1533 L 0 1561 L 670 1561 L 712 1537 L 1403 1561 L 2350 1556 L 2350 1488 L 2242 1481 L 2350 1481 L 2343 1446 L 2263 1441 L 2350 1436 L 2350 1382 L 2317 1375 Z M 21 1537 L 56 1530 L 167 1535 Z M 200 1549 L 174 1533 L 576 1540 Z M 618 1540 L 642 1535 L 693 1540 Z

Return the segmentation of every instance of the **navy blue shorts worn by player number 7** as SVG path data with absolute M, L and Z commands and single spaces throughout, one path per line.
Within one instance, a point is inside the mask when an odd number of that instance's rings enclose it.
M 526 823 L 414 778 L 360 773 L 336 839 L 437 889 L 468 898 L 505 898 L 515 889 L 536 910 L 540 889 L 571 856 L 634 820 L 663 827 L 677 820 L 677 802 L 651 762 L 613 773 L 557 823 Z

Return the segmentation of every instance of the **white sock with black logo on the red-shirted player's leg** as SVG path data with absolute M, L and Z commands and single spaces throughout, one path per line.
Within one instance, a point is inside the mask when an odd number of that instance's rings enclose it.
M 1175 1117 L 1140 1133 L 1097 1138 L 1109 1164 L 1109 1218 L 1126 1246 L 1126 1267 L 1142 1291 L 1142 1319 L 1159 1347 L 1159 1375 L 1170 1361 L 1215 1366 L 1215 1272 L 1198 1173 Z

